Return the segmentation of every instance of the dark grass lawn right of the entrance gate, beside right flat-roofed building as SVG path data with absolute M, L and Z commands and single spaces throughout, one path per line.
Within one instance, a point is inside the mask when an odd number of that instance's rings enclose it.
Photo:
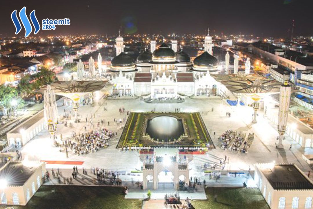
M 270 209 L 257 188 L 210 187 L 205 189 L 207 200 L 194 200 L 196 209 Z M 214 195 L 217 194 L 217 202 Z

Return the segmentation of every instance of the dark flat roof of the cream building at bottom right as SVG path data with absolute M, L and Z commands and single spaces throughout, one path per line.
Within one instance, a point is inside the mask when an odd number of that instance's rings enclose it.
M 275 190 L 313 190 L 313 183 L 294 164 L 274 165 L 271 168 L 268 165 L 259 164 L 258 168 Z

